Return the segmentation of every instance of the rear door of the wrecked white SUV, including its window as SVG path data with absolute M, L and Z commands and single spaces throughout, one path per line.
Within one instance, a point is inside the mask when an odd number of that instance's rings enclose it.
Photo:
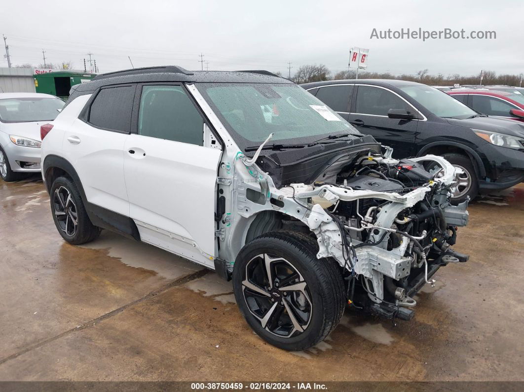
M 65 130 L 62 150 L 77 171 L 90 203 L 129 215 L 124 143 L 130 132 L 136 85 L 104 87 L 81 118 Z

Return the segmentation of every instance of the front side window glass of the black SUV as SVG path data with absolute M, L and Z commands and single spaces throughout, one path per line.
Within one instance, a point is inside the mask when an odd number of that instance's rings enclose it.
M 413 112 L 405 100 L 384 88 L 358 86 L 355 113 L 387 117 L 389 109 Z

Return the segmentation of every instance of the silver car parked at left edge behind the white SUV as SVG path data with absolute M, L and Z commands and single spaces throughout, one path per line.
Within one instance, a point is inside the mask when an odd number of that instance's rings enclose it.
M 40 171 L 40 126 L 64 106 L 48 94 L 0 93 L 0 177 L 15 181 Z

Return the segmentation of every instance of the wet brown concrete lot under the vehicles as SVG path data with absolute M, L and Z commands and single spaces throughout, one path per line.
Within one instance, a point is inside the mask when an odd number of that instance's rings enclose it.
M 53 225 L 38 176 L 0 181 L 0 380 L 524 380 L 524 186 L 470 207 L 449 265 L 410 322 L 346 312 L 305 352 L 276 349 L 230 283 L 104 231 Z

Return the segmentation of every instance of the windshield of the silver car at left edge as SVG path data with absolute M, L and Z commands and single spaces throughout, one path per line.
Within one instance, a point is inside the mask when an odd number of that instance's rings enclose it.
M 59 98 L 5 98 L 0 99 L 0 121 L 51 121 L 64 106 Z

